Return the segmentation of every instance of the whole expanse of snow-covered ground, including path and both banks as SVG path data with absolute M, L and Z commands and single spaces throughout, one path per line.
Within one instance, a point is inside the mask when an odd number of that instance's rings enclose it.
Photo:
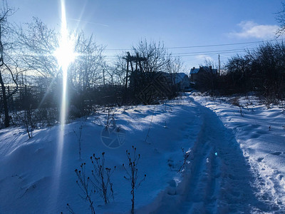
M 95 212 L 130 213 L 122 164 L 132 146 L 140 153 L 138 181 L 146 175 L 135 190 L 135 213 L 285 213 L 284 106 L 266 108 L 254 97 L 238 103 L 187 93 L 157 106 L 115 108 L 110 113 L 123 134 L 110 139 L 119 137 L 119 147 L 104 145 L 107 112 L 73 121 L 64 132 L 39 128 L 30 139 L 24 128 L 2 129 L 0 213 L 69 213 L 67 203 L 90 213 L 74 170 L 86 163 L 90 176 L 90 156 L 103 152 L 105 166 L 116 166 L 114 200 L 105 205 L 94 193 Z

